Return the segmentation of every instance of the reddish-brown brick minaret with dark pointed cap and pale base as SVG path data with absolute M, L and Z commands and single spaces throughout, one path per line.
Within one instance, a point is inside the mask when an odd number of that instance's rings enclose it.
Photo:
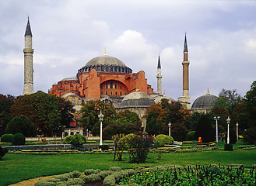
M 188 71 L 188 45 L 187 45 L 187 36 L 185 33 L 185 41 L 184 41 L 184 50 L 183 50 L 184 60 L 182 62 L 183 66 L 183 96 L 178 98 L 179 101 L 184 105 L 185 108 L 190 109 L 190 97 L 189 97 L 189 71 Z

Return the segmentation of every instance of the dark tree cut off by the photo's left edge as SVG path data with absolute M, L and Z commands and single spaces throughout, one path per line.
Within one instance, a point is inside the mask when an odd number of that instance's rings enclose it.
M 5 127 L 11 121 L 10 108 L 16 98 L 12 95 L 0 94 L 0 136 L 5 131 Z M 2 128 L 1 128 L 2 126 Z

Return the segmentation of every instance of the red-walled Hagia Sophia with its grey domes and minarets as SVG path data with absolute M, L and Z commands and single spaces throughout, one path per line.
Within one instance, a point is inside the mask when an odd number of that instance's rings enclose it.
M 25 33 L 24 52 L 24 95 L 33 94 L 33 49 L 32 32 L 28 20 Z M 177 98 L 183 108 L 191 112 L 209 112 L 216 101 L 215 95 L 202 95 L 191 106 L 189 96 L 189 64 L 187 37 L 184 38 L 183 67 L 183 95 Z M 73 77 L 66 77 L 58 83 L 54 83 L 48 93 L 65 98 L 72 102 L 75 110 L 79 111 L 83 102 L 100 99 L 106 104 L 112 104 L 117 112 L 125 109 L 136 112 L 142 119 L 142 127 L 145 129 L 146 119 L 144 114 L 149 105 L 158 103 L 162 98 L 174 102 L 162 93 L 162 75 L 160 56 L 156 63 L 157 91 L 146 79 L 146 72 L 132 72 L 124 62 L 116 57 L 110 57 L 105 52 L 103 56 L 94 57 L 81 67 Z M 76 126 L 75 123 L 72 126 Z M 69 129 L 69 132 L 71 133 Z M 73 131 L 72 133 L 75 133 Z M 76 133 L 81 133 L 77 131 Z

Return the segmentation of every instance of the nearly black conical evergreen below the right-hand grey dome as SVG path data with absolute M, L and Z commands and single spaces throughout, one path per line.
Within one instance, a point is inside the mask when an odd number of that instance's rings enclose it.
M 212 142 L 214 140 L 214 129 L 212 128 L 212 115 L 201 115 L 198 125 L 195 129 L 195 137 L 202 137 L 203 142 Z

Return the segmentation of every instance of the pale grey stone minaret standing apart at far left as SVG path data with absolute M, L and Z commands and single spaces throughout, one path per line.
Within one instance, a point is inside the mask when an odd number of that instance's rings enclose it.
M 24 91 L 23 95 L 33 94 L 33 49 L 30 19 L 28 18 L 25 32 L 24 52 Z

